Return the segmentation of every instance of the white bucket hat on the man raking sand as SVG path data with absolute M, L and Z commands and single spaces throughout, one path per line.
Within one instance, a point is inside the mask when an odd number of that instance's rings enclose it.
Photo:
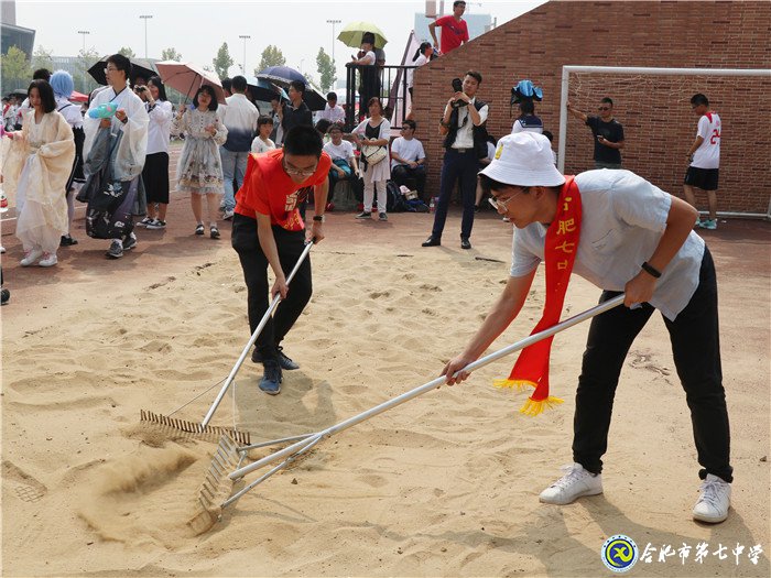
M 554 166 L 549 139 L 535 132 L 502 137 L 498 141 L 495 159 L 479 174 L 522 187 L 554 187 L 565 183 L 565 177 Z

